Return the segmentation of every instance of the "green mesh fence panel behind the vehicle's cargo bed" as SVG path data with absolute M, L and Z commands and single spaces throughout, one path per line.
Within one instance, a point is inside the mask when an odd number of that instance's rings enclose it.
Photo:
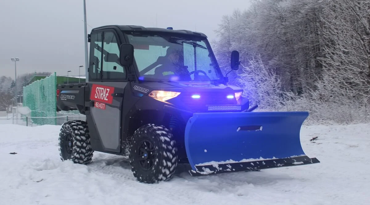
M 23 106 L 28 107 L 33 124 L 56 124 L 57 74 L 23 87 Z

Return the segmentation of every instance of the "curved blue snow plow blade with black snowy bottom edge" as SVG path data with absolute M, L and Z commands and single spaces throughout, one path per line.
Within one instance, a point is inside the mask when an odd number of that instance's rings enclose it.
M 186 124 L 190 174 L 252 171 L 319 163 L 300 143 L 308 112 L 195 113 Z

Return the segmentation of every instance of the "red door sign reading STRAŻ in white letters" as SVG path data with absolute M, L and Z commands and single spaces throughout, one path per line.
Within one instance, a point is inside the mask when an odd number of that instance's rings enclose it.
M 113 93 L 114 87 L 92 84 L 90 99 L 97 102 L 112 104 Z

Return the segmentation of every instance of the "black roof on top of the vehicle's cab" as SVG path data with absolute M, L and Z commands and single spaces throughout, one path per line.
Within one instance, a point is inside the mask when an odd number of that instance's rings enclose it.
M 167 32 L 167 33 L 175 33 L 175 34 L 187 34 L 187 35 L 198 35 L 207 38 L 207 36 L 203 33 L 189 31 L 189 30 L 172 30 L 166 28 L 150 28 L 150 27 L 143 27 L 139 25 L 104 25 L 100 27 L 93 28 L 92 31 L 100 30 L 103 28 L 110 28 L 116 27 L 121 31 L 148 31 L 148 32 Z

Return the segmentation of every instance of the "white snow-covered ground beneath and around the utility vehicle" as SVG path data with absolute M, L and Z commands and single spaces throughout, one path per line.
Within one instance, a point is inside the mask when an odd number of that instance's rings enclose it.
M 303 127 L 303 150 L 319 164 L 205 177 L 180 167 L 159 184 L 137 182 L 121 156 L 62 162 L 59 129 L 0 124 L 0 204 L 370 204 L 370 124 Z

